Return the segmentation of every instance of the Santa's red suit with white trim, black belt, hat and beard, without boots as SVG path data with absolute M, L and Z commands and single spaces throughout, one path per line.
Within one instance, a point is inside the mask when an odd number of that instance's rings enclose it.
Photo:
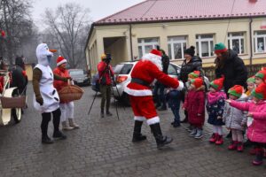
M 160 122 L 153 104 L 153 92 L 149 85 L 156 79 L 173 89 L 183 89 L 184 87 L 183 82 L 176 81 L 161 70 L 160 51 L 152 50 L 151 53 L 146 54 L 137 62 L 131 73 L 132 81 L 125 89 L 130 97 L 130 104 L 135 115 L 134 119 L 139 121 L 147 119 L 148 125 Z

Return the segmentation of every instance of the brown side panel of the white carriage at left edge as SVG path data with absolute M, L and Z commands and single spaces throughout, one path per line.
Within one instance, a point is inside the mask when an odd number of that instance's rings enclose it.
M 26 106 L 26 96 L 5 97 L 0 96 L 2 108 L 24 108 Z

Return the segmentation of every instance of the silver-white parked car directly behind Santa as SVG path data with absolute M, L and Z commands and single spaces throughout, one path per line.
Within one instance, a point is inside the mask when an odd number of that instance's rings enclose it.
M 113 96 L 115 99 L 120 100 L 125 104 L 129 104 L 129 96 L 124 92 L 124 89 L 128 85 L 129 81 L 131 81 L 131 72 L 136 64 L 137 61 L 122 62 L 114 68 L 114 70 L 116 70 L 116 86 L 113 85 Z M 180 70 L 181 67 L 179 65 L 170 62 L 168 66 L 168 75 L 172 78 L 178 78 Z M 208 89 L 209 81 L 207 77 L 204 77 L 204 82 Z

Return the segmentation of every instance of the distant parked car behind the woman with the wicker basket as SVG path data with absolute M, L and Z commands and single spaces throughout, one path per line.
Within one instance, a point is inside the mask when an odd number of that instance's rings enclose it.
M 82 69 L 69 69 L 68 70 L 70 77 L 73 78 L 74 84 L 83 86 L 90 85 L 90 78 L 88 74 Z

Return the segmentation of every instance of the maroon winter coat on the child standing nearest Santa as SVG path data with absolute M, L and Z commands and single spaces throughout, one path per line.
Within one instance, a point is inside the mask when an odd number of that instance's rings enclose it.
M 184 100 L 184 109 L 188 112 L 188 119 L 192 125 L 203 126 L 205 119 L 204 87 L 188 91 Z

